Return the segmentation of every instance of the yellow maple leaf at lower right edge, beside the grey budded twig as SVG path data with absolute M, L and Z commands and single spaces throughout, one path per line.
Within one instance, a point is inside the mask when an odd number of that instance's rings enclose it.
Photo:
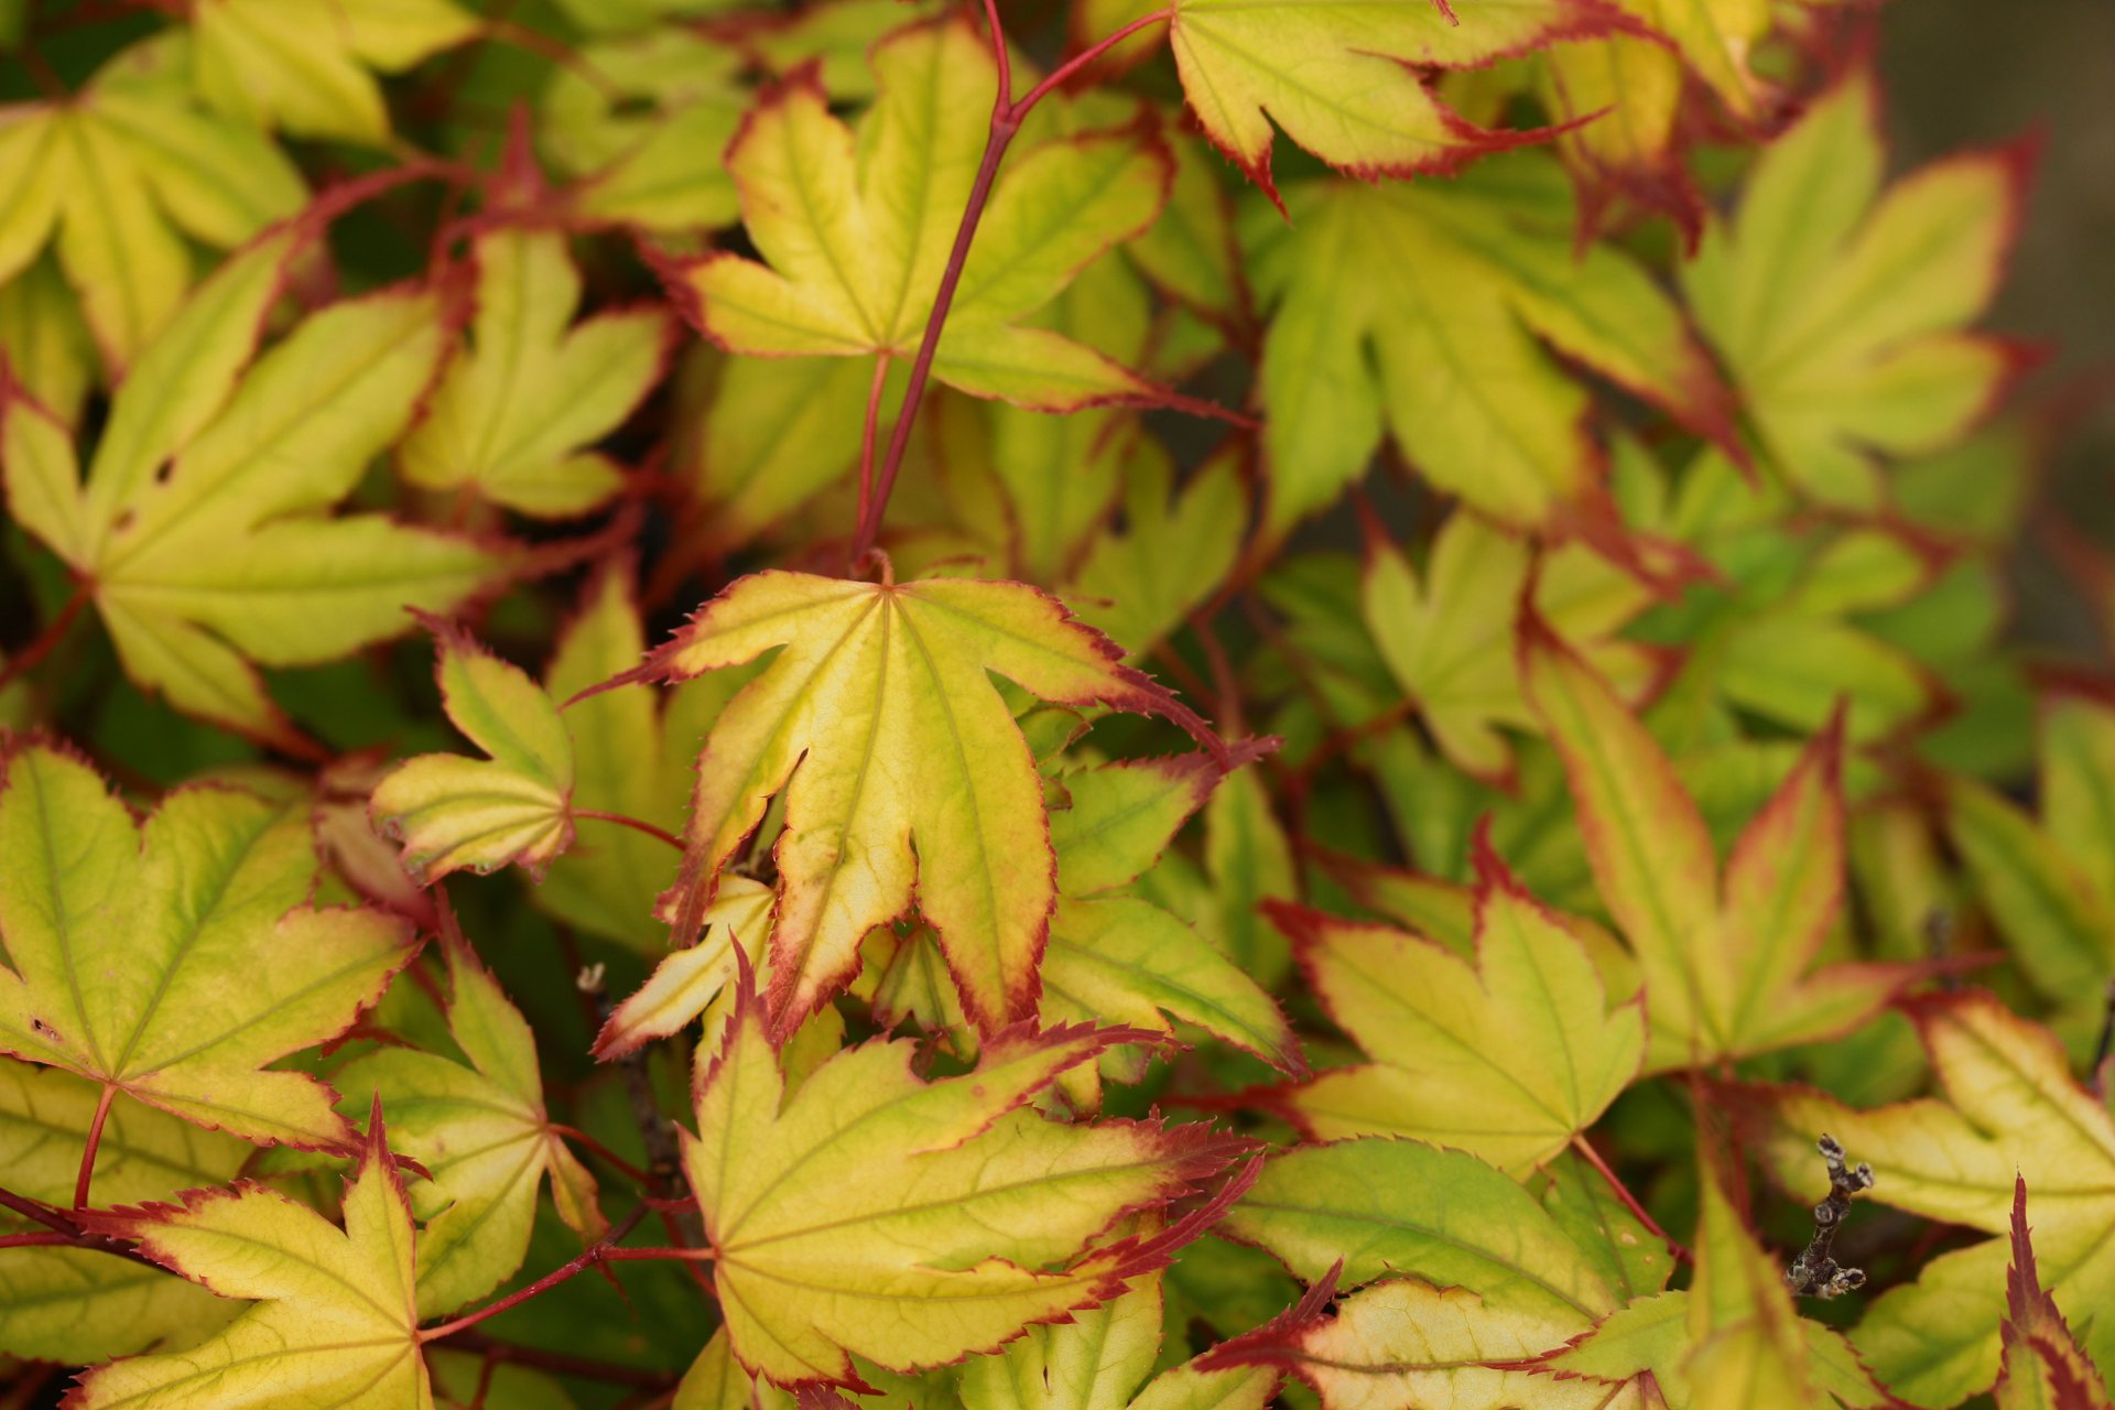
M 2083 1330 L 2096 1363 L 2115 1363 L 2115 1114 L 2071 1078 L 2047 1029 L 1988 994 L 1918 998 L 1908 1008 L 1946 1099 L 1857 1112 L 1821 1093 L 1762 1093 L 1768 1156 L 1806 1194 L 1827 1131 L 1880 1171 L 1868 1199 L 1988 1235 L 1925 1262 L 1916 1283 L 1874 1300 L 1853 1342 L 1874 1374 L 1918 1406 L 1952 1406 L 1997 1380 L 2005 1262 L 2018 1180 L 2037 1194 L 2037 1245 L 2047 1294 Z

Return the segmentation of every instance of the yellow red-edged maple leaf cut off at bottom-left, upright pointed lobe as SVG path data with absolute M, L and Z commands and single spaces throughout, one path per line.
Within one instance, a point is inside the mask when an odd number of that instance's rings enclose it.
M 412 1220 L 383 1135 L 368 1123 L 345 1186 L 345 1228 L 252 1182 L 192 1190 L 180 1205 L 93 1213 L 85 1224 L 222 1298 L 256 1302 L 188 1351 L 89 1370 L 68 1410 L 258 1410 L 317 1404 L 431 1410 L 419 1355 Z

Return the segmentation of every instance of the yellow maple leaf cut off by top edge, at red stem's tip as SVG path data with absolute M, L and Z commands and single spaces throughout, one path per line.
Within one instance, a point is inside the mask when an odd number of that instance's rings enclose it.
M 1483 68 L 1557 38 L 1603 34 L 1597 0 L 1176 0 L 1167 42 L 1191 110 L 1271 199 L 1271 123 L 1360 178 L 1455 171 L 1540 133 L 1449 110 L 1415 68 Z M 1269 116 L 1265 116 L 1269 114 Z

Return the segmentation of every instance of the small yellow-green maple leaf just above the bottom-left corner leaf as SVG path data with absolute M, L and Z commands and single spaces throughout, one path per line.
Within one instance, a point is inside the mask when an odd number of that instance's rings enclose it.
M 450 1313 L 520 1268 L 535 1222 L 537 1186 L 550 1177 L 558 1218 L 584 1241 L 607 1222 L 594 1175 L 552 1129 L 535 1034 L 461 939 L 446 945 L 448 1036 L 470 1059 L 383 1049 L 338 1070 L 351 1106 L 370 1097 L 396 1123 L 398 1154 L 431 1175 L 412 1209 L 419 1237 L 419 1315 Z

